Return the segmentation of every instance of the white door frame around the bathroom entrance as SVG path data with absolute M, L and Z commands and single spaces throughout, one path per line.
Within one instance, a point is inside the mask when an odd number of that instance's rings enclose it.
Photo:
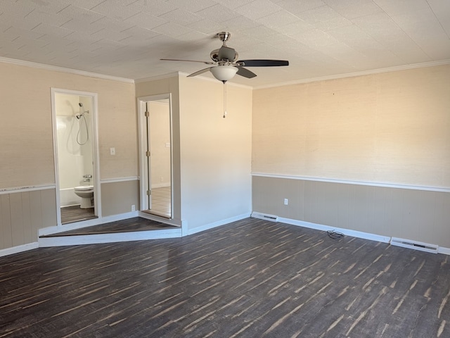
M 77 90 L 51 88 L 51 122 L 53 124 L 53 159 L 55 164 L 55 181 L 56 181 L 56 220 L 58 227 L 61 224 L 61 203 L 60 203 L 60 184 L 59 184 L 59 165 L 58 165 L 58 140 L 56 129 L 56 105 L 55 94 L 70 94 L 77 96 L 90 96 L 92 99 L 92 140 L 94 161 L 94 210 L 96 216 L 101 218 L 101 190 L 100 190 L 100 159 L 98 152 L 98 94 L 91 92 L 80 92 Z

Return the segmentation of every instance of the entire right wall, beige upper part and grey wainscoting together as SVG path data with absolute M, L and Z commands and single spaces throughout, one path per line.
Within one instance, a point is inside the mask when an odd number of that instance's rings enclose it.
M 449 248 L 449 88 L 442 65 L 255 90 L 253 211 Z

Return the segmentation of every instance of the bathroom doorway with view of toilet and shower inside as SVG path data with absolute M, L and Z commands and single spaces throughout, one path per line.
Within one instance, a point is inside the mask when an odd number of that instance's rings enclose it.
M 96 94 L 52 89 L 58 225 L 98 218 Z

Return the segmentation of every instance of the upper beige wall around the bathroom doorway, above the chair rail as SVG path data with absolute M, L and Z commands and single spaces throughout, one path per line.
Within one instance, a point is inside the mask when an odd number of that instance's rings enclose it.
M 8 163 L 0 167 L 0 188 L 55 183 L 51 87 L 98 93 L 101 178 L 137 175 L 134 84 L 8 63 L 0 73 L 0 158 Z

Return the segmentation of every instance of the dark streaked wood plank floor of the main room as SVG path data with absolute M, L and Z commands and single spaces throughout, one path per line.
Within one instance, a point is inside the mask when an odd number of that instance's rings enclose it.
M 448 256 L 246 219 L 0 258 L 0 337 L 450 337 Z

